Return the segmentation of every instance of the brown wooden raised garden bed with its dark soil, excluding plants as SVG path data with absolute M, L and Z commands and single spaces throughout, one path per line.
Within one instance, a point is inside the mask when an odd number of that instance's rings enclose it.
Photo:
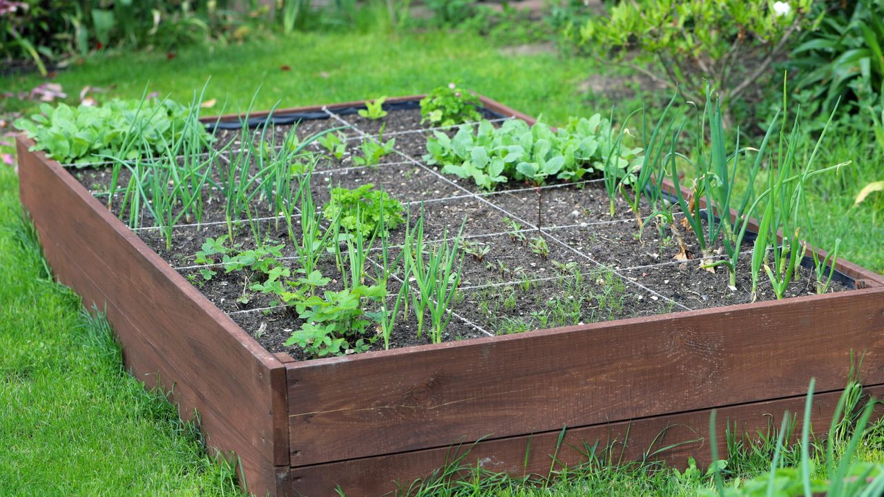
M 248 292 L 238 274 L 200 279 L 205 264 L 194 264 L 194 254 L 226 232 L 223 210 L 207 203 L 201 226 L 182 223 L 167 248 L 149 221 L 130 229 L 93 195 L 107 184 L 106 169 L 66 169 L 19 136 L 21 200 L 57 278 L 107 310 L 136 378 L 170 389 L 183 416 L 195 409 L 210 446 L 240 458 L 252 492 L 330 495 L 341 486 L 347 495 L 377 495 L 393 480 L 426 476 L 459 444 L 486 469 L 545 473 L 563 428 L 561 463 L 580 463 L 584 441 L 623 443 L 628 431 L 627 457 L 677 444 L 657 456 L 683 463 L 708 456 L 711 409 L 719 409 L 720 433 L 728 422 L 754 432 L 768 414 L 801 409 L 811 377 L 814 419 L 825 419 L 851 352 L 865 353 L 865 384 L 884 391 L 880 275 L 839 259 L 829 293 L 812 294 L 807 270 L 790 298 L 771 300 L 762 285 L 761 302 L 751 303 L 745 281 L 732 290 L 725 271 L 673 261 L 678 248 L 655 230 L 637 238 L 625 204 L 611 218 L 598 180 L 544 187 L 538 212 L 533 187 L 484 192 L 426 165 L 417 98 L 387 101 L 380 122 L 384 138 L 396 138 L 394 153 L 374 167 L 352 161 L 358 144 L 380 132 L 379 121 L 355 114 L 363 103 L 277 112 L 302 119 L 301 137 L 354 125 L 344 130 L 353 153 L 316 165 L 318 205 L 328 185 L 372 183 L 415 210 L 423 203 L 428 241 L 466 217 L 466 240 L 489 248 L 464 261 L 442 343 L 416 338 L 412 317 L 392 333 L 389 350 L 376 340 L 369 352 L 312 360 L 283 345 L 300 325 L 286 306 Z M 497 125 L 533 122 L 482 102 Z M 214 146 L 241 146 L 238 117 L 220 122 L 232 129 L 219 129 Z M 282 143 L 286 126 L 278 119 L 265 138 Z M 260 209 L 261 229 L 283 237 L 275 213 Z M 548 254 L 514 233 L 543 236 Z M 249 236 L 247 227 L 234 233 L 247 248 Z M 401 236 L 392 232 L 393 253 Z

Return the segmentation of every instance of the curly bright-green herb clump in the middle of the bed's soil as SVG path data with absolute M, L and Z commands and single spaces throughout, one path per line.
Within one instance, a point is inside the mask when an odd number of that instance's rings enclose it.
M 383 209 L 386 229 L 400 226 L 404 222 L 402 212 L 405 208 L 402 203 L 373 187 L 373 184 L 367 183 L 354 190 L 342 187 L 332 189 L 331 199 L 323 207 L 324 218 L 338 218 L 340 226 L 347 231 L 370 236 L 377 230 Z

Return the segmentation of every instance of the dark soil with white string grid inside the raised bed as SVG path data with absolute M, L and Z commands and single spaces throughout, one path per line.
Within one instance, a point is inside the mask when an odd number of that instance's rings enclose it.
M 318 143 L 306 146 L 315 154 L 316 169 L 310 190 L 316 206 L 329 200 L 331 187 L 356 188 L 371 184 L 399 200 L 408 210 L 408 226 L 415 226 L 423 215 L 423 241 L 436 247 L 460 233 L 463 261 L 458 271 L 459 289 L 453 297 L 451 321 L 442 333 L 442 340 L 465 340 L 493 334 L 519 333 L 562 325 L 640 317 L 680 310 L 707 309 L 752 301 L 749 254 L 743 256 L 736 271 L 736 285 L 729 286 L 728 271 L 701 267 L 723 258 L 720 248 L 703 251 L 690 228 L 682 227 L 688 256 L 680 249 L 670 226 L 649 221 L 638 234 L 635 215 L 618 197 L 614 215 L 604 186 L 598 180 L 553 184 L 541 189 L 524 184 L 506 184 L 486 192 L 468 180 L 443 175 L 437 167 L 423 164 L 426 137 L 419 110 L 390 111 L 379 120 L 356 114 L 338 119 L 306 120 L 297 126 L 268 126 L 248 130 L 218 130 L 213 147 L 220 154 L 206 154 L 205 167 L 212 167 L 212 178 L 219 180 L 217 170 L 225 164 L 245 164 L 240 150 L 244 143 L 255 143 L 254 149 L 278 150 L 292 143 L 286 138 L 294 133 L 300 142 L 314 134 L 329 130 L 340 132 L 346 143 L 342 157 L 331 157 Z M 392 153 L 381 157 L 379 164 L 364 166 L 354 163 L 362 157 L 360 144 L 377 137 L 383 128 L 383 140 L 394 139 Z M 453 133 L 453 130 L 446 130 Z M 267 143 L 267 145 L 263 145 Z M 307 160 L 301 157 L 300 160 Z M 254 175 L 261 165 L 253 155 L 248 159 L 248 173 Z M 114 176 L 112 168 L 70 169 L 80 182 L 104 203 Z M 225 222 L 225 198 L 216 186 L 203 187 L 202 219 L 192 214 L 181 216 L 170 230 L 159 229 L 148 210 L 132 219 L 124 203 L 130 174 L 118 171 L 118 190 L 112 195 L 111 210 L 127 223 L 150 248 L 164 258 L 185 278 L 194 283 L 217 307 L 225 311 L 244 330 L 252 334 L 271 352 L 285 351 L 299 360 L 311 356 L 284 342 L 304 320 L 298 311 L 286 306 L 274 294 L 262 294 L 252 288 L 263 283 L 266 275 L 257 271 L 225 271 L 221 256 L 213 256 L 213 264 L 196 264 L 197 252 L 211 239 L 232 234 L 226 245 L 237 251 L 253 249 L 255 240 L 280 245 L 279 262 L 293 274 L 301 268 L 298 252 L 289 238 L 286 218 L 263 195 L 255 195 L 249 203 L 252 221 L 233 219 Z M 216 181 L 216 184 L 219 181 Z M 260 182 L 256 183 L 260 185 Z M 643 217 L 649 210 L 643 206 Z M 676 219 L 680 219 L 676 213 Z M 137 224 L 135 223 L 137 221 Z M 301 237 L 298 212 L 292 213 L 295 241 Z M 677 223 L 681 226 L 681 223 Z M 539 226 L 539 227 L 538 227 Z M 390 233 L 387 260 L 394 268 L 387 281 L 385 302 L 392 309 L 400 291 L 399 260 L 405 241 L 405 227 Z M 167 236 L 170 237 L 167 240 Z M 344 247 L 346 258 L 346 247 Z M 744 251 L 751 244 L 743 245 Z M 369 248 L 370 260 L 365 264 L 363 282 L 371 285 L 383 279 L 383 253 L 379 242 Z M 316 269 L 330 279 L 317 290 L 337 292 L 347 284 L 350 273 L 346 262 L 336 264 L 333 254 L 321 256 Z M 341 271 L 343 269 L 343 271 Z M 210 279 L 202 271 L 215 274 Z M 414 296 L 415 282 L 409 281 Z M 829 292 L 846 289 L 834 282 Z M 800 278 L 789 287 L 787 296 L 815 294 L 812 271 L 803 268 Z M 758 283 L 758 301 L 775 298 L 764 274 Z M 367 313 L 381 310 L 380 300 L 362 300 Z M 408 347 L 431 343 L 427 328 L 430 316 L 424 318 L 424 329 L 418 337 L 414 312 L 415 301 L 408 302 L 408 314 L 400 313 L 389 337 L 389 346 Z M 364 337 L 372 341 L 370 349 L 385 348 L 385 340 L 376 323 L 365 326 Z

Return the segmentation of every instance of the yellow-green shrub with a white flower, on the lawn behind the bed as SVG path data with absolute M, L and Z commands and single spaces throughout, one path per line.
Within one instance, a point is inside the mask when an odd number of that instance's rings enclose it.
M 621 2 L 610 17 L 584 24 L 577 41 L 587 49 L 613 52 L 621 64 L 668 81 L 694 102 L 704 100 L 704 80 L 712 81 L 729 103 L 759 88 L 759 79 L 789 50 L 796 31 L 811 24 L 811 4 L 811 0 Z

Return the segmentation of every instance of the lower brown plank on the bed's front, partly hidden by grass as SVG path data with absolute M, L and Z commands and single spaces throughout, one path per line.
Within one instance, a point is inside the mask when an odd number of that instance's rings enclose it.
M 865 393 L 880 398 L 884 394 L 884 386 L 866 386 Z M 840 390 L 814 395 L 811 417 L 814 432 L 827 431 L 840 396 Z M 725 441 L 728 426 L 732 430 L 736 427 L 748 437 L 755 437 L 758 432 L 766 433 L 772 422 L 779 428 L 784 413 L 789 411 L 791 415 L 797 415 L 796 435 L 800 435 L 805 398 L 800 395 L 717 409 L 719 457 L 723 458 L 728 454 Z M 652 460 L 666 461 L 683 468 L 690 456 L 705 467 L 712 460 L 708 440 L 711 413 L 712 409 L 703 409 L 569 428 L 558 450 L 556 446 L 561 429 L 500 440 L 483 440 L 476 444 L 293 468 L 292 484 L 295 493 L 310 497 L 337 495 L 336 486 L 340 486 L 348 497 L 384 495 L 396 489 L 395 482 L 408 487 L 411 482 L 429 477 L 434 470 L 460 455 L 465 455 L 462 464 L 472 465 L 474 468 L 481 465 L 484 470 L 507 472 L 516 477 L 545 476 L 549 474 L 551 467 L 560 470 L 562 465 L 575 467 L 585 463 L 584 454 L 588 452 L 586 448 L 597 442 L 598 452 L 611 447 L 614 461 L 636 461 L 641 460 L 644 455 L 653 454 L 650 457 Z M 670 445 L 676 446 L 657 453 Z M 556 456 L 559 463 L 552 463 L 552 455 Z

